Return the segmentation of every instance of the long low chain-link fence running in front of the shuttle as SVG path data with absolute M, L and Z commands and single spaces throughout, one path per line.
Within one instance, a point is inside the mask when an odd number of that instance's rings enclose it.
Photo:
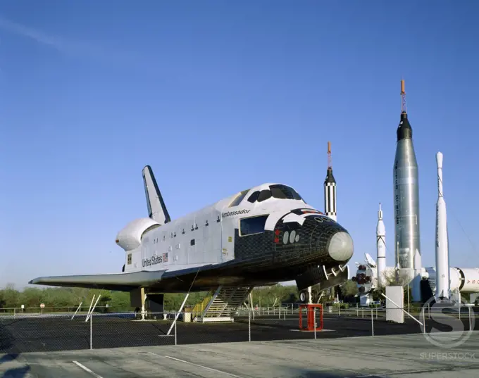
M 441 324 L 434 315 L 434 309 L 430 309 L 430 314 L 423 310 L 417 317 L 425 322 L 425 331 L 407 315 L 402 324 L 387 322 L 382 308 L 332 310 L 328 306 L 318 306 L 311 313 L 306 308 L 239 308 L 234 322 L 227 323 L 196 322 L 191 313 L 173 312 L 148 313 L 143 319 L 135 313 L 17 313 L 0 317 L 0 353 L 450 331 L 447 322 Z M 459 314 L 464 329 L 479 327 L 473 321 L 473 308 L 468 308 L 467 314 Z

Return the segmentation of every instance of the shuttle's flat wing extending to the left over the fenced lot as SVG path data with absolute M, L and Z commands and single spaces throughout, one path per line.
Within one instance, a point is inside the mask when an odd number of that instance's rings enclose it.
M 86 287 L 88 289 L 106 289 L 130 291 L 139 286 L 149 286 L 161 281 L 165 270 L 156 272 L 132 272 L 112 275 L 52 276 L 32 279 L 29 284 Z

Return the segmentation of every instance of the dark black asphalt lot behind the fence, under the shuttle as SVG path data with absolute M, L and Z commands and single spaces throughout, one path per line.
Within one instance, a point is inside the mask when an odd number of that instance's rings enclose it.
M 479 322 L 478 322 L 479 323 Z M 168 346 L 251 341 L 311 340 L 314 332 L 299 331 L 297 315 L 237 317 L 232 323 L 196 323 L 178 321 L 168 335 L 172 320 L 131 320 L 125 317 L 93 315 L 92 322 L 85 316 L 2 317 L 0 318 L 0 353 L 27 353 L 72 351 L 80 349 Z M 468 330 L 469 320 L 454 320 L 454 330 Z M 462 327 L 462 329 L 460 329 Z M 473 321 L 473 329 L 479 324 Z M 449 332 L 452 327 L 426 319 L 426 332 Z M 417 322 L 407 319 L 404 324 L 386 322 L 371 317 L 337 317 L 325 315 L 323 330 L 317 339 L 351 338 L 358 336 L 385 336 L 421 334 Z

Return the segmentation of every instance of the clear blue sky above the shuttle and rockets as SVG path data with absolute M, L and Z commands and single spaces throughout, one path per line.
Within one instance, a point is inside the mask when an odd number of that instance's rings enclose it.
M 113 6 L 114 4 L 114 6 Z M 423 265 L 435 264 L 444 153 L 452 265 L 479 266 L 479 6 L 473 1 L 35 1 L 0 7 L 0 286 L 119 272 L 147 216 L 262 182 L 323 210 L 327 142 L 354 261 L 375 256 L 406 80 Z

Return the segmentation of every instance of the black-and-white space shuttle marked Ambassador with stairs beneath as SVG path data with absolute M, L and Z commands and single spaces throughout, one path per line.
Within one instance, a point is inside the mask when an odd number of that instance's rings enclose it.
M 254 286 L 295 281 L 321 290 L 349 278 L 352 237 L 292 187 L 266 183 L 172 220 L 149 165 L 142 170 L 148 218 L 126 225 L 116 244 L 123 272 L 38 277 L 30 284 L 127 291 L 144 317 L 163 312 L 165 293 L 210 291 L 197 321 L 232 320 Z M 180 309 L 181 310 L 181 309 Z

